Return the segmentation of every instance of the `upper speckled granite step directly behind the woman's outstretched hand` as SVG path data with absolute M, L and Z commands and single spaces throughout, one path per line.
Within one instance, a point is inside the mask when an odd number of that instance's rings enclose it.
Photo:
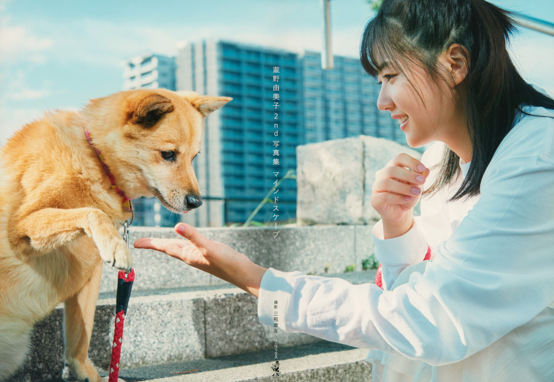
M 223 242 L 263 267 L 325 276 L 341 273 L 347 266 L 362 270 L 362 260 L 373 252 L 370 225 L 314 225 L 273 228 L 198 228 L 210 240 Z M 132 227 L 131 243 L 139 238 L 181 238 L 172 228 Z M 132 249 L 133 290 L 225 285 L 225 281 L 184 262 L 153 250 Z M 327 270 L 326 270 L 327 269 Z M 117 270 L 104 265 L 100 292 L 117 286 Z

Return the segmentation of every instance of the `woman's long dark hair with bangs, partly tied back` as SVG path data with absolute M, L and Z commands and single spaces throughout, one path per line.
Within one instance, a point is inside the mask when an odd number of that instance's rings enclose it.
M 438 56 L 452 44 L 465 48 L 464 106 L 473 154 L 468 174 L 447 202 L 479 195 L 485 169 L 514 118 L 531 115 L 520 105 L 554 109 L 554 100 L 527 84 L 510 59 L 506 44 L 516 31 L 513 17 L 484 0 L 384 0 L 363 33 L 362 66 L 373 77 L 385 60 L 402 73 L 402 60 L 425 69 L 436 84 L 452 84 L 454 79 Z M 453 96 L 456 91 L 459 95 L 458 86 L 454 86 Z M 434 194 L 461 174 L 459 157 L 448 147 L 433 168 L 437 167 L 434 184 L 422 195 Z

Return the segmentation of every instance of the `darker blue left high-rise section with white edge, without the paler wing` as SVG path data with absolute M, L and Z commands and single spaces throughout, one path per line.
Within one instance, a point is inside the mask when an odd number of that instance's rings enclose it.
M 274 91 L 274 85 L 280 90 Z M 305 142 L 298 55 L 222 41 L 187 44 L 177 55 L 177 89 L 233 97 L 206 118 L 201 154 L 193 162 L 204 204 L 185 221 L 201 226 L 244 222 L 273 182 L 296 169 L 295 149 Z M 276 92 L 279 109 L 273 99 Z M 278 166 L 273 164 L 276 158 Z M 276 196 L 279 220 L 295 219 L 296 182 L 285 180 Z M 273 204 L 264 205 L 254 220 L 269 220 L 271 210 Z

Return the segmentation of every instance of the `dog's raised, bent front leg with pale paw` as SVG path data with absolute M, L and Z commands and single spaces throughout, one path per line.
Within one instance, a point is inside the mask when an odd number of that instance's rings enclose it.
M 109 216 L 96 208 L 43 208 L 16 224 L 9 238 L 20 257 L 48 253 L 79 235 L 89 235 L 100 257 L 121 270 L 131 270 L 131 251 Z

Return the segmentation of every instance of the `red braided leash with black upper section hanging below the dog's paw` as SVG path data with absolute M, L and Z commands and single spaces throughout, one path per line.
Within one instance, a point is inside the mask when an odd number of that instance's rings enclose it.
M 117 382 L 119 376 L 119 360 L 121 357 L 121 343 L 123 340 L 123 322 L 127 313 L 127 305 L 131 296 L 131 288 L 135 280 L 135 271 L 125 273 L 119 271 L 117 275 L 117 297 L 115 303 L 115 331 L 114 343 L 111 347 L 111 361 L 109 369 L 109 382 Z

